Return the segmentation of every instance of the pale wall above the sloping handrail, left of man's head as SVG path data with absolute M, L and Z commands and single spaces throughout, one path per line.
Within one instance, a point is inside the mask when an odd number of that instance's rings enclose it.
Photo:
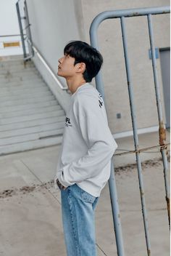
M 68 41 L 80 39 L 72 0 L 28 0 L 33 44 L 57 72 L 58 59 Z

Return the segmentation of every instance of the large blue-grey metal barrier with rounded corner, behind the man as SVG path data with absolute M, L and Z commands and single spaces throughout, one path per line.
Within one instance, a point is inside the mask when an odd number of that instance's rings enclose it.
M 140 153 L 142 150 L 139 148 L 139 143 L 138 143 L 138 127 L 137 127 L 137 121 L 135 116 L 135 102 L 134 102 L 134 95 L 133 95 L 132 76 L 130 72 L 130 61 L 128 56 L 125 17 L 146 16 L 148 20 L 149 39 L 150 39 L 151 54 L 152 54 L 152 66 L 153 66 L 153 73 L 154 73 L 154 87 L 156 92 L 157 112 L 158 112 L 158 118 L 159 118 L 159 148 L 162 153 L 162 161 L 164 166 L 164 185 L 165 185 L 165 193 L 166 193 L 166 201 L 167 201 L 168 219 L 169 219 L 169 225 L 170 225 L 170 189 L 169 189 L 168 180 L 167 180 L 167 172 L 168 172 L 167 144 L 165 143 L 166 130 L 164 127 L 164 121 L 162 117 L 162 105 L 161 105 L 161 98 L 159 95 L 159 80 L 157 77 L 157 67 L 156 67 L 155 49 L 154 49 L 154 36 L 153 36 L 153 28 L 152 28 L 152 20 L 151 20 L 151 15 L 162 15 L 166 13 L 170 13 L 170 7 L 152 7 L 152 8 L 143 8 L 143 9 L 125 9 L 125 10 L 102 12 L 94 18 L 90 28 L 91 46 L 95 47 L 96 49 L 99 49 L 98 35 L 97 35 L 99 25 L 104 20 L 120 18 L 121 31 L 122 31 L 122 44 L 123 44 L 123 51 L 125 55 L 125 67 L 126 67 L 126 75 L 127 75 L 127 81 L 128 81 L 130 113 L 131 113 L 131 119 L 132 119 L 132 125 L 133 125 L 133 138 L 134 138 L 134 145 L 135 145 L 134 152 L 136 156 L 136 163 L 137 163 L 137 169 L 138 169 L 138 182 L 139 182 L 139 188 L 140 188 L 141 205 L 142 205 L 142 213 L 143 213 L 143 225 L 144 225 L 144 231 L 145 231 L 145 237 L 146 237 L 146 249 L 147 249 L 148 256 L 151 255 L 151 245 L 150 245 L 150 237 L 149 237 L 146 202 L 145 202 L 144 189 L 143 189 L 143 175 L 142 175 L 142 168 L 141 168 Z M 95 79 L 96 79 L 96 88 L 104 97 L 104 83 L 102 80 L 101 71 L 99 72 L 99 74 L 96 76 Z M 110 198 L 111 198 L 111 204 L 112 204 L 112 215 L 113 215 L 114 231 L 115 231 L 116 244 L 117 244 L 117 255 L 124 256 L 125 251 L 124 251 L 124 245 L 123 245 L 123 239 L 122 239 L 120 209 L 119 209 L 119 204 L 117 199 L 117 188 L 115 183 L 113 164 L 111 168 L 111 176 L 109 178 L 109 191 L 110 191 Z

